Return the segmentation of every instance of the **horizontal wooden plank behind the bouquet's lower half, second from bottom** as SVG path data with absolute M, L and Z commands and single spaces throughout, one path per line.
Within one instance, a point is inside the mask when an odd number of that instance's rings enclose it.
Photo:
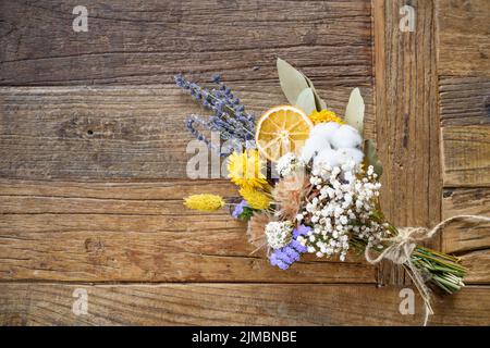
M 0 278 L 64 282 L 373 283 L 375 268 L 305 258 L 289 272 L 250 254 L 245 224 L 182 198 L 228 182 L 0 181 Z

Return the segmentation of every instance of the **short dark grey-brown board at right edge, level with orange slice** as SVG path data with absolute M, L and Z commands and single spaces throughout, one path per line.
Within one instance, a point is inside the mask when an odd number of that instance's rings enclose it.
M 439 78 L 440 114 L 442 126 L 490 124 L 490 78 Z

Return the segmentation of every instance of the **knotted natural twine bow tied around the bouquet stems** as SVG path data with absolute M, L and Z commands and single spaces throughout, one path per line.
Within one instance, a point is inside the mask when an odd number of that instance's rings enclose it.
M 393 263 L 401 264 L 407 269 L 408 275 L 424 299 L 424 326 L 427 325 L 429 315 L 433 314 L 432 307 L 430 304 L 431 294 L 429 287 L 426 285 L 427 281 L 424 275 L 412 262 L 412 253 L 417 247 L 417 241 L 432 238 L 437 233 L 454 220 L 490 222 L 490 217 L 482 215 L 456 215 L 441 221 L 432 229 L 426 227 L 403 227 L 399 228 L 399 234 L 396 236 L 381 239 L 381 241 L 388 241 L 390 245 L 377 258 L 373 259 L 370 256 L 372 246 L 368 245 L 365 250 L 366 260 L 371 264 L 377 264 L 382 260 L 391 260 Z

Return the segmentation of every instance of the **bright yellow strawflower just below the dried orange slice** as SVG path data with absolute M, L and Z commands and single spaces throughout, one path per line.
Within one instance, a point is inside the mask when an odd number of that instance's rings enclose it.
M 242 187 L 266 188 L 268 184 L 261 163 L 258 150 L 233 152 L 228 158 L 228 177 Z

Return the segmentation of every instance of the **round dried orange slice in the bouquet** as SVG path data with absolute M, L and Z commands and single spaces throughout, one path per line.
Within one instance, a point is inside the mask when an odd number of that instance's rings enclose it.
M 299 156 L 313 126 L 311 120 L 301 109 L 291 105 L 272 108 L 257 122 L 257 148 L 273 162 L 287 152 Z

